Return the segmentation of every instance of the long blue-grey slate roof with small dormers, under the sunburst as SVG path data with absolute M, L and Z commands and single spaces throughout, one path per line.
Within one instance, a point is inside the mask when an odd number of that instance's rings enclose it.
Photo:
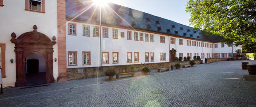
M 197 31 L 190 26 L 185 26 L 135 9 L 123 7 L 114 3 L 108 3 L 108 6 L 110 8 L 107 6 L 102 8 L 101 23 L 104 24 L 130 28 L 132 26 L 135 29 L 149 30 L 210 42 L 219 42 L 223 39 L 223 37 L 220 36 L 205 35 L 204 33 L 201 33 L 201 30 Z M 99 23 L 100 7 L 93 5 L 91 0 L 66 0 L 66 19 Z M 196 32 L 194 33 L 194 31 Z

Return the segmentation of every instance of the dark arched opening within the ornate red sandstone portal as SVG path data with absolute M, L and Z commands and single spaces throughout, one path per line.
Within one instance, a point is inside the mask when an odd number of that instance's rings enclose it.
M 33 53 L 26 57 L 26 85 L 45 84 L 45 58 L 41 54 Z

